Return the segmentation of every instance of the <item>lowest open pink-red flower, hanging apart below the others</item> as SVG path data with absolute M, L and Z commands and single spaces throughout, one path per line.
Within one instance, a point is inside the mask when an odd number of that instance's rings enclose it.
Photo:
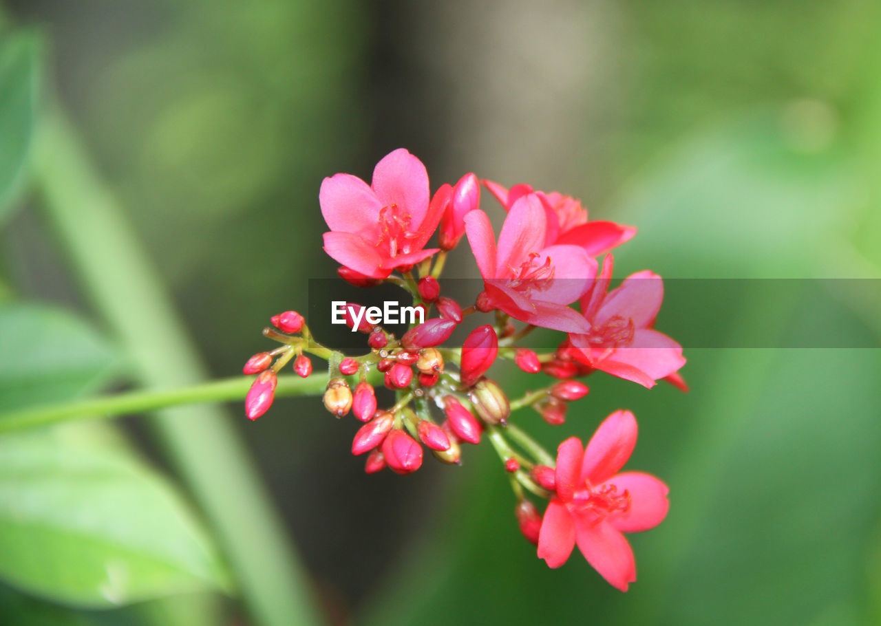
M 618 470 L 636 445 L 636 418 L 630 411 L 606 417 L 588 446 L 566 439 L 557 449 L 557 496 L 544 512 L 538 557 L 549 567 L 566 563 L 575 544 L 612 586 L 627 591 L 636 580 L 633 550 L 624 533 L 639 533 L 667 515 L 667 485 L 655 476 Z

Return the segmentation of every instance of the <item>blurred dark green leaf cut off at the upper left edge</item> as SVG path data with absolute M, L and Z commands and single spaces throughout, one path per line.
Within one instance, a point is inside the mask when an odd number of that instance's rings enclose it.
M 36 33 L 0 37 L 0 225 L 25 177 L 36 126 L 41 84 L 41 38 Z

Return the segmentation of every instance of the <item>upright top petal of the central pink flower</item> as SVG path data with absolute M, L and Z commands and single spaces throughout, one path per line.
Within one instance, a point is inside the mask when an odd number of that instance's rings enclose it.
M 530 253 L 537 253 L 544 247 L 546 225 L 544 205 L 537 195 L 524 195 L 517 200 L 508 211 L 499 233 L 497 271 L 505 276 L 515 275 Z

